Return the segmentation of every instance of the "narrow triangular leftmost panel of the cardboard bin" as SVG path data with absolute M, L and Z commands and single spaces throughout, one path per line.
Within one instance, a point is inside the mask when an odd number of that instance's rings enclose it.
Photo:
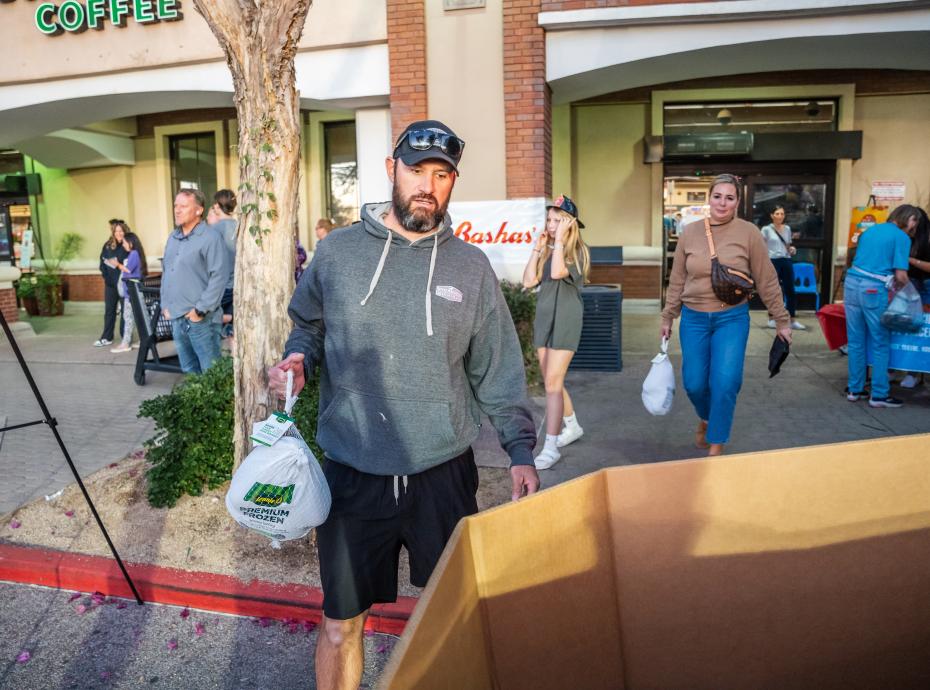
M 442 577 L 437 576 L 440 572 Z M 425 606 L 426 602 L 429 606 Z M 379 687 L 397 690 L 493 687 L 480 605 L 471 539 L 467 521 L 462 521 L 423 591 Z M 414 630 L 417 634 L 410 634 Z

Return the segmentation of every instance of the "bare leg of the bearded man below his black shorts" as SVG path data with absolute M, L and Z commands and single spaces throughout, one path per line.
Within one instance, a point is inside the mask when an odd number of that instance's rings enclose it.
M 318 690 L 356 690 L 365 663 L 365 619 L 368 611 L 348 620 L 323 616 L 316 642 Z

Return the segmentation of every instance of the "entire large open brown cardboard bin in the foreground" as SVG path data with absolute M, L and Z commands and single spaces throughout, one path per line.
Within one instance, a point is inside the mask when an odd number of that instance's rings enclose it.
M 922 435 L 602 470 L 463 520 L 381 687 L 930 688 L 928 650 Z

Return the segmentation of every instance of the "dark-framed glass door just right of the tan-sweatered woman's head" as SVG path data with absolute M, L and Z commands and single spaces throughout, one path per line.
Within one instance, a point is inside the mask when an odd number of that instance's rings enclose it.
M 813 266 L 820 304 L 828 304 L 833 279 L 832 179 L 778 175 L 749 177 L 746 182 L 744 217 L 761 228 L 771 222 L 777 206 L 784 207 L 797 248 L 794 263 Z M 815 309 L 816 304 L 813 294 L 798 294 L 799 309 Z

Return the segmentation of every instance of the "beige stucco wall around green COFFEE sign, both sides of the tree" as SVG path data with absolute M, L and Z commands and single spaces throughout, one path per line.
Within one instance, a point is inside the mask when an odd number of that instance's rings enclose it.
M 130 20 L 124 28 L 105 22 L 98 31 L 59 36 L 46 36 L 36 28 L 38 5 L 0 2 L 0 44 L 16 46 L 0 61 L 0 85 L 222 59 L 216 39 L 189 1 L 181 3 L 180 21 L 140 25 Z M 386 39 L 385 0 L 314 0 L 300 47 Z M 54 60 L 49 59 L 50 51 Z

